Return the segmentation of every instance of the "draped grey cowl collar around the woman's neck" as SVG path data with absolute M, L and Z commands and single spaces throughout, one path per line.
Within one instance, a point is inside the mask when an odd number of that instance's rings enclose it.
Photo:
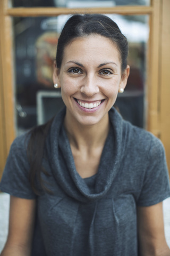
M 120 167 L 123 147 L 123 119 L 114 108 L 109 111 L 111 129 L 101 154 L 95 178 L 95 192 L 91 193 L 86 181 L 80 177 L 75 169 L 69 139 L 63 126 L 64 116 L 65 108 L 54 118 L 50 129 L 50 149 L 48 154 L 51 159 L 54 178 L 68 196 L 80 202 L 100 199 L 111 188 L 114 177 Z

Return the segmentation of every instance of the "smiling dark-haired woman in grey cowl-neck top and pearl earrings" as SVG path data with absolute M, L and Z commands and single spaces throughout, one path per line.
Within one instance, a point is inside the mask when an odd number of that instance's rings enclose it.
M 11 194 L 3 256 L 170 255 L 162 143 L 112 107 L 129 76 L 127 55 L 104 15 L 66 22 L 53 75 L 66 108 L 12 144 L 1 182 Z

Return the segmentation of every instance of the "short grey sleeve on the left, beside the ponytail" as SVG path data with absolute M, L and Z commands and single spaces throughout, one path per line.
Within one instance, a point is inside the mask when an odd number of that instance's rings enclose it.
M 7 157 L 0 183 L 0 190 L 12 196 L 35 199 L 29 183 L 29 163 L 25 146 L 25 137 L 16 138 Z

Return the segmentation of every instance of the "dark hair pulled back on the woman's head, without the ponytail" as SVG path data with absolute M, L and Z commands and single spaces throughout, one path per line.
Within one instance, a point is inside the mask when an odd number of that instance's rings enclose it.
M 64 48 L 75 38 L 100 35 L 111 39 L 120 52 L 122 73 L 127 66 L 128 41 L 117 24 L 103 14 L 75 14 L 67 22 L 58 38 L 56 64 L 61 68 Z

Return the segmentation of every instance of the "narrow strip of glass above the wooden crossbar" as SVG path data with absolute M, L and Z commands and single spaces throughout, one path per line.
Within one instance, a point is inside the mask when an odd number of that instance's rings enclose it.
M 116 5 L 150 5 L 150 0 L 13 0 L 13 7 L 112 7 Z

